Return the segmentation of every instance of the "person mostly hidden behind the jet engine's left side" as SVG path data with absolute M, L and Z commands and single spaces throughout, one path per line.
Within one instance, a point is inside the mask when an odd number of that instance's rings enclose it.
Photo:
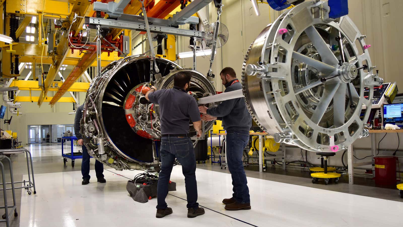
M 83 161 L 81 162 L 81 174 L 83 175 L 83 182 L 81 182 L 82 185 L 87 185 L 89 183 L 89 154 L 87 151 L 87 147 L 84 146 L 83 143 L 83 136 L 80 133 L 80 121 L 81 117 L 83 116 L 83 105 L 77 108 L 76 116 L 74 118 L 74 132 L 75 135 L 78 139 L 77 143 L 81 145 L 83 149 Z M 99 162 L 98 160 L 95 161 L 95 172 L 97 176 L 97 181 L 99 183 L 106 183 L 106 180 L 104 178 L 104 164 Z

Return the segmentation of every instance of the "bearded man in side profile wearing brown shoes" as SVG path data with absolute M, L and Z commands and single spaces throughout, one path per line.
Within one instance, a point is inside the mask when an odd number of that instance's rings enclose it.
M 220 72 L 222 84 L 226 87 L 224 92 L 242 89 L 234 69 L 226 67 Z M 226 130 L 226 162 L 231 172 L 233 195 L 224 199 L 226 210 L 249 210 L 251 208 L 249 188 L 247 186 L 245 169 L 243 168 L 243 149 L 249 143 L 249 130 L 252 118 L 249 114 L 245 98 L 222 101 L 217 107 L 208 109 L 199 106 L 201 113 L 206 113 L 202 120 L 222 120 Z

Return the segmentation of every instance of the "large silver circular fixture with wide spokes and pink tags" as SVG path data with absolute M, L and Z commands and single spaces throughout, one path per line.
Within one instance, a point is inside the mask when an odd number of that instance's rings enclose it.
M 368 135 L 364 122 L 382 79 L 373 72 L 366 36 L 349 17 L 330 19 L 329 11 L 327 1 L 301 3 L 264 28 L 247 51 L 245 101 L 276 142 L 335 152 Z

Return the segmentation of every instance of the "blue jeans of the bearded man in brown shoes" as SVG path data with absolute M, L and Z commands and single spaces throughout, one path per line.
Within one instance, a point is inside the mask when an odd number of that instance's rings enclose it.
M 233 198 L 239 203 L 250 203 L 245 169 L 243 168 L 243 149 L 249 143 L 249 132 L 227 130 L 225 156 L 232 177 Z

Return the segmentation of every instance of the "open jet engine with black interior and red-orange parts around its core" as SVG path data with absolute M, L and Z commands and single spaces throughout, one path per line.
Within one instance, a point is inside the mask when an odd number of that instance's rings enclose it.
M 156 73 L 152 63 L 148 57 L 112 62 L 94 78 L 83 104 L 81 132 L 89 154 L 117 170 L 159 166 L 158 148 L 153 143 L 161 136 L 158 106 L 145 99 L 143 86 L 172 88 L 173 75 L 179 70 L 192 74 L 193 95 L 215 92 L 207 78 L 196 71 L 156 59 Z M 212 124 L 206 124 L 205 130 Z

